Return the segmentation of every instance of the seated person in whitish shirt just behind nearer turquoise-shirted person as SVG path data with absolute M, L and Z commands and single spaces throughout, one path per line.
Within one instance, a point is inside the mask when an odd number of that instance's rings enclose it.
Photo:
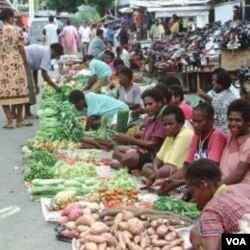
M 141 106 L 140 87 L 134 85 L 133 71 L 130 68 L 120 69 L 120 87 L 118 88 L 118 99 L 124 101 L 130 110 L 136 110 Z

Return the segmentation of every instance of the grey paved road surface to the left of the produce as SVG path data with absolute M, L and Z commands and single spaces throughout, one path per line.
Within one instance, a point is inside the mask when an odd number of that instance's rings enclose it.
M 22 145 L 34 136 L 38 122 L 14 130 L 2 129 L 4 123 L 0 110 L 0 250 L 70 250 L 69 243 L 57 241 L 53 224 L 44 221 L 40 203 L 30 201 L 24 187 Z

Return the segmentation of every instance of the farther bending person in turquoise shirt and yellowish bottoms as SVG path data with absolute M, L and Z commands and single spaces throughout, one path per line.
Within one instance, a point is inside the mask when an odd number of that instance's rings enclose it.
M 94 59 L 91 55 L 84 56 L 82 62 L 92 74 L 84 90 L 100 92 L 103 86 L 108 85 L 108 78 L 112 75 L 111 68 L 107 63 Z

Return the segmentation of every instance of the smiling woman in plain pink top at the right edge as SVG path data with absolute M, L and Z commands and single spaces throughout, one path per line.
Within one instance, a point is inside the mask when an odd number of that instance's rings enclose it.
M 223 183 L 247 187 L 250 197 L 250 104 L 235 100 L 229 105 L 227 116 L 230 133 L 220 162 Z

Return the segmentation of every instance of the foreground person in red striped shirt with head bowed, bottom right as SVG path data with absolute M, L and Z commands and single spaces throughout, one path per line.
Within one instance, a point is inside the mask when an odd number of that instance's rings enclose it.
M 234 187 L 221 185 L 218 166 L 200 159 L 187 167 L 186 184 L 201 210 L 198 225 L 191 230 L 192 249 L 221 249 L 223 233 L 240 231 L 239 220 L 250 212 L 250 201 Z

